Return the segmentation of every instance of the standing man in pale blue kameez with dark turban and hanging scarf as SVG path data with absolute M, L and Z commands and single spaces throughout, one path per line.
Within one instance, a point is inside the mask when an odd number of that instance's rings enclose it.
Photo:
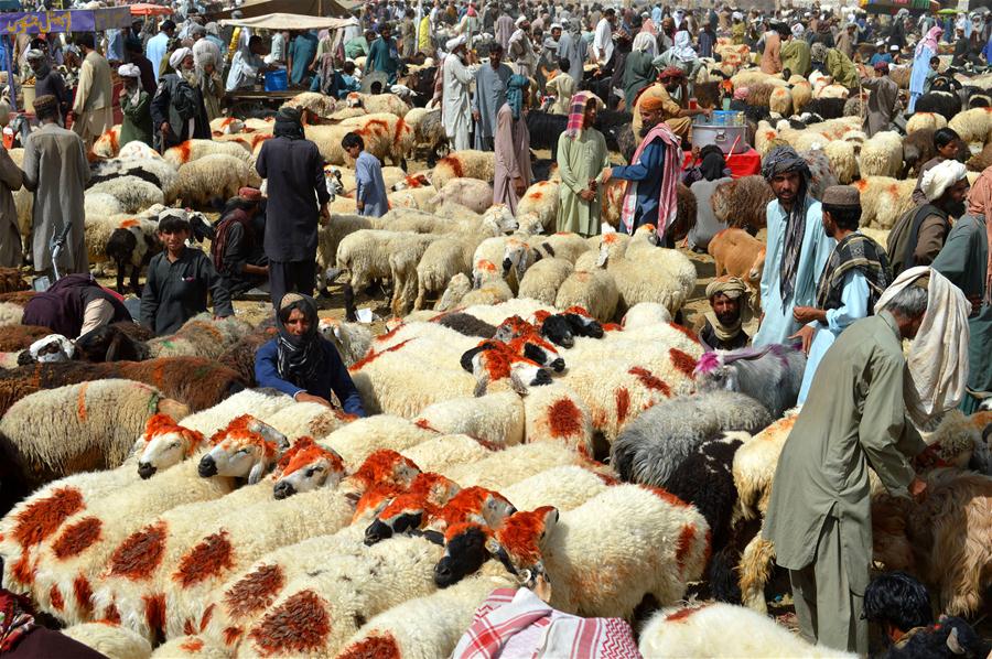
M 799 331 L 796 306 L 812 306 L 817 278 L 833 250 L 822 229 L 820 202 L 808 194 L 809 166 L 791 147 L 776 147 L 762 163 L 762 175 L 775 198 L 766 209 L 768 238 L 762 273 L 761 326 L 755 347 L 786 339 Z

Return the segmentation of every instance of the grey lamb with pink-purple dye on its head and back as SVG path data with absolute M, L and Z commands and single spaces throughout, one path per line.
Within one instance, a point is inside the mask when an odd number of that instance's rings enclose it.
M 806 354 L 785 346 L 704 353 L 696 367 L 700 391 L 723 389 L 759 401 L 773 418 L 795 407 L 802 385 Z

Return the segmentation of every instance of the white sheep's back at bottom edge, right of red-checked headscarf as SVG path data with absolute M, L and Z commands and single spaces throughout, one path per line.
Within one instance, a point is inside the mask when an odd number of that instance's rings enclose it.
M 810 659 L 855 657 L 850 652 L 809 645 L 767 616 L 722 603 L 673 606 L 659 611 L 645 624 L 638 647 L 645 657 L 672 653 L 692 657 Z

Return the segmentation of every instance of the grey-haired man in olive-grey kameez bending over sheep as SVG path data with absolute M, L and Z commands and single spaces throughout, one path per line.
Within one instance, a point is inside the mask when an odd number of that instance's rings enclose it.
M 764 534 L 789 570 L 800 633 L 810 642 L 867 655 L 861 611 L 872 563 L 869 467 L 891 494 L 926 489 L 909 464 L 925 445 L 906 418 L 902 350 L 926 309 L 927 290 L 914 283 L 838 337 L 778 460 Z

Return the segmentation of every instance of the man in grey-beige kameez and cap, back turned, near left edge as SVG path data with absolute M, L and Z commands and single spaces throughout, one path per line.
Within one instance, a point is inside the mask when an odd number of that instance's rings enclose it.
M 54 96 L 35 98 L 34 115 L 41 128 L 28 136 L 22 165 L 24 187 L 34 193 L 34 269 L 52 274 L 52 242 L 64 235 L 58 273 L 88 272 L 83 229 L 83 191 L 89 181 L 86 145 L 58 126 Z

